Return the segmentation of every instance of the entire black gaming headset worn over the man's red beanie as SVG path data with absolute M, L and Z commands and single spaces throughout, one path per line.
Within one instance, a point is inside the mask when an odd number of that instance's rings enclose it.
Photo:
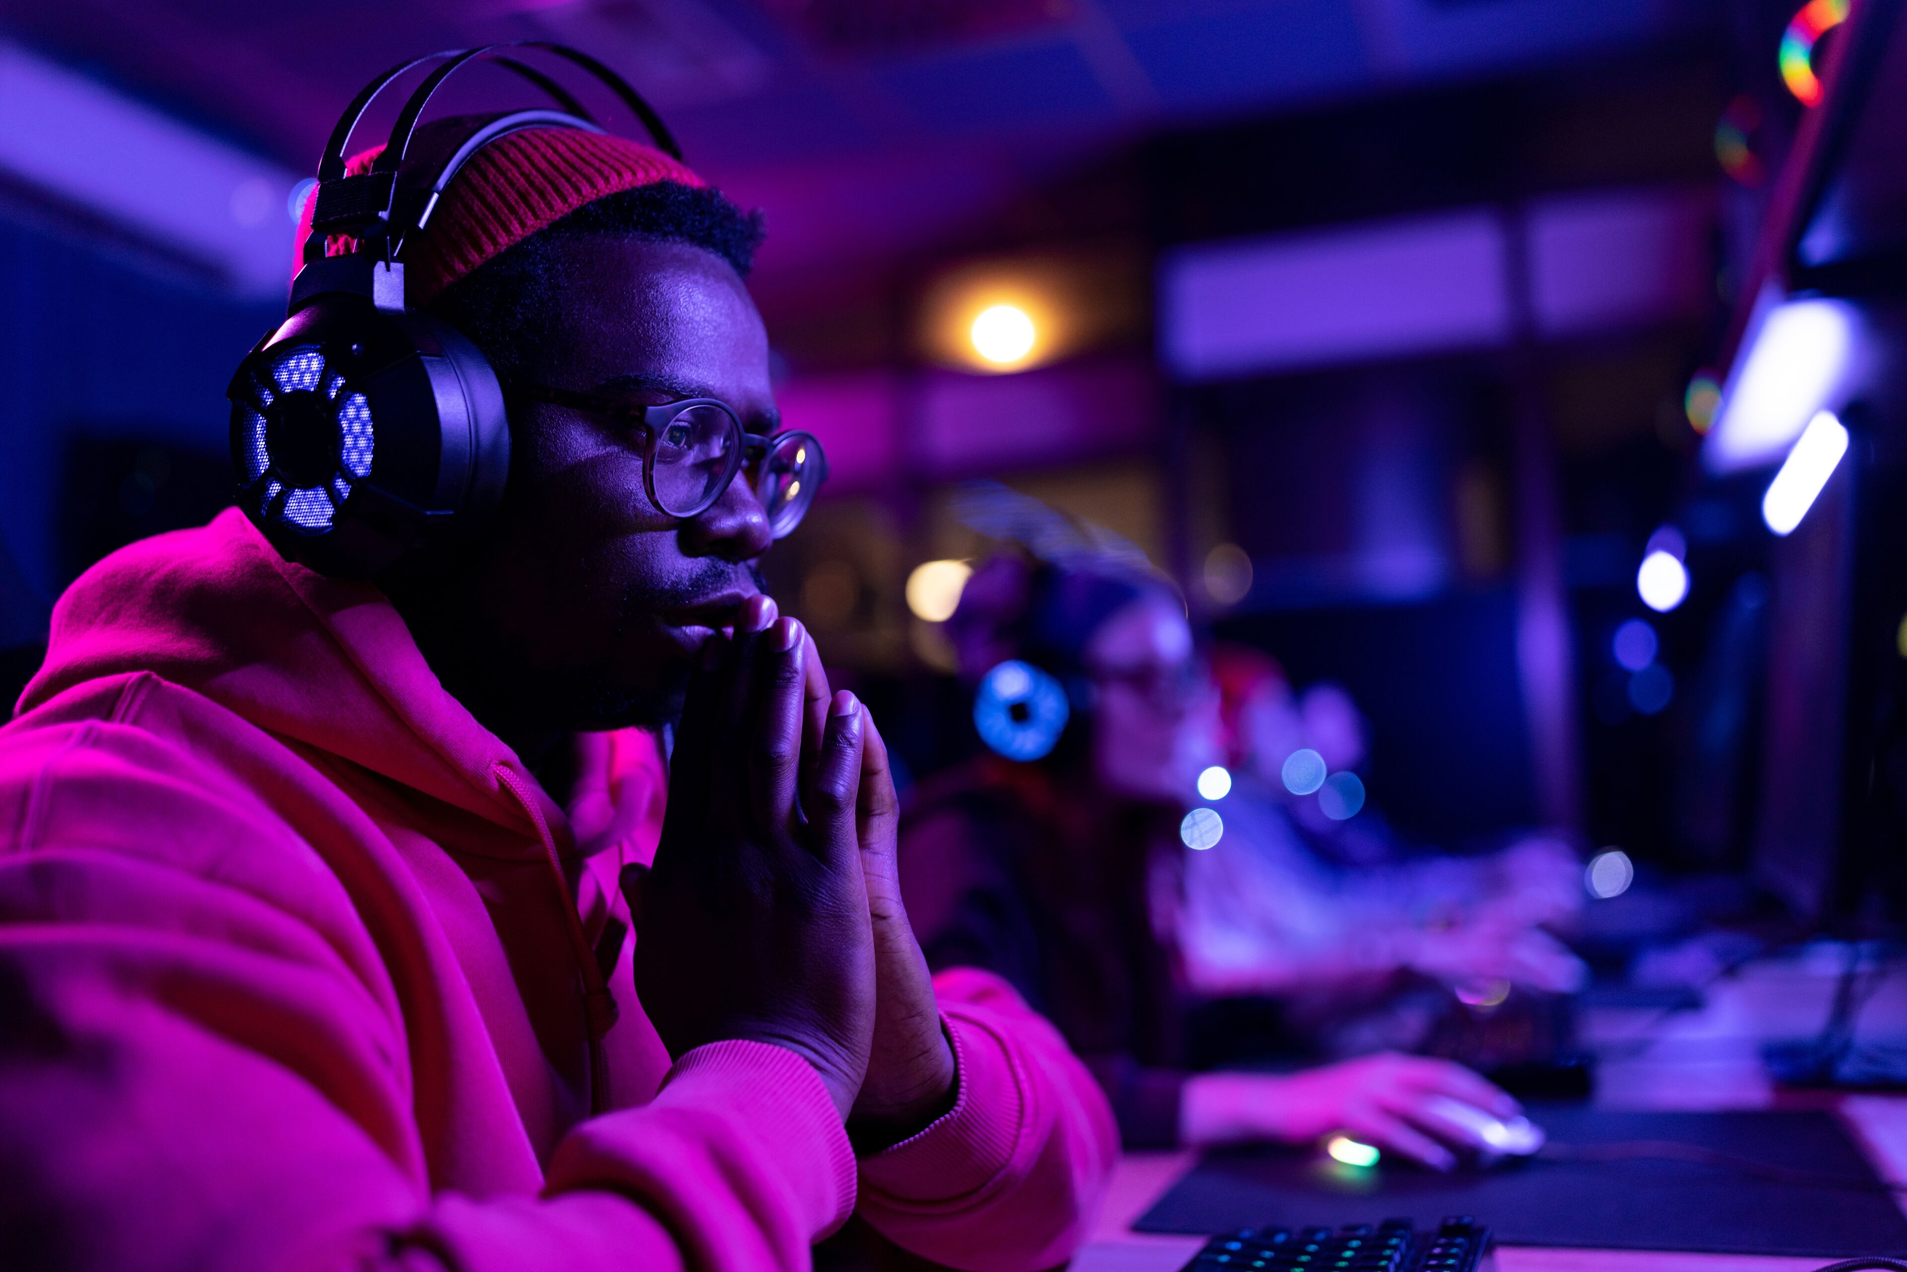
M 404 305 L 404 250 L 477 151 L 523 128 L 603 126 L 553 78 L 511 50 L 538 48 L 582 67 L 635 113 L 671 158 L 662 118 L 614 71 L 536 40 L 416 57 L 364 86 L 324 147 L 311 235 L 284 322 L 233 376 L 231 446 L 238 507 L 288 561 L 336 578 L 379 578 L 441 561 L 503 500 L 509 421 L 496 372 L 465 336 Z M 345 147 L 372 99 L 404 72 L 439 61 L 397 114 L 362 175 Z M 496 63 L 559 109 L 437 120 L 431 97 L 460 67 Z M 326 256 L 349 235 L 351 256 Z

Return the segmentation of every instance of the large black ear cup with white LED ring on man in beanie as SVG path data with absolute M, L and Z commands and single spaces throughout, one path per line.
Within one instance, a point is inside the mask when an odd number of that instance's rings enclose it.
M 320 574 L 441 559 L 503 498 L 503 393 L 429 315 L 320 299 L 244 360 L 227 397 L 238 507 Z

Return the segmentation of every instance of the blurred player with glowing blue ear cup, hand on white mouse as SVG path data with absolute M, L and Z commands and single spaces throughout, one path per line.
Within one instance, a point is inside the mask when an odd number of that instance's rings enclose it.
M 1045 751 L 986 755 L 915 791 L 900 841 L 908 913 L 931 967 L 994 971 L 1060 1026 L 1112 1097 L 1129 1148 L 1348 1131 L 1447 1169 L 1478 1144 L 1438 1116 L 1436 1097 L 1516 1112 L 1476 1074 L 1423 1057 L 1188 1072 L 1179 822 L 1217 757 L 1217 698 L 1182 601 L 1125 564 L 1013 553 L 969 580 L 948 629 L 980 694 L 1001 667 L 1022 694 L 1037 671 L 1034 696 L 997 717 L 1013 721 L 1007 732 L 982 736 Z M 1037 685 L 1072 702 L 1053 738 L 1037 736 L 1056 717 Z

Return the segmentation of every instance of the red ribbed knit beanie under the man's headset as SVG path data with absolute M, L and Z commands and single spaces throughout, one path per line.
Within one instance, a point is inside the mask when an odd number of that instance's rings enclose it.
M 370 172 L 372 160 L 381 153 L 379 145 L 353 154 L 345 172 Z M 404 248 L 406 301 L 427 305 L 492 256 L 584 204 L 658 181 L 707 187 L 679 160 L 627 137 L 580 128 L 524 128 L 507 133 L 463 164 L 423 235 Z M 299 215 L 299 250 L 311 235 L 315 204 L 317 198 L 307 198 Z M 351 238 L 334 235 L 326 242 L 326 256 L 339 256 L 355 246 Z M 292 265 L 294 273 L 301 263 L 299 256 Z

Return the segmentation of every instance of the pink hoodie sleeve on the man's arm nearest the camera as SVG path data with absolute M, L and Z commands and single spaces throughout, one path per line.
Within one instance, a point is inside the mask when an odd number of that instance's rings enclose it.
M 479 1083 L 460 1074 L 494 1058 L 408 1028 L 442 1007 L 383 969 L 421 955 L 357 917 L 397 902 L 347 894 L 322 828 L 259 803 L 269 776 L 101 715 L 0 732 L 0 1232 L 21 1266 L 807 1268 L 852 1207 L 826 1089 L 763 1043 L 685 1055 L 547 1171 L 460 1123 L 414 1066 Z M 461 1182 L 423 1152 L 458 1135 Z

